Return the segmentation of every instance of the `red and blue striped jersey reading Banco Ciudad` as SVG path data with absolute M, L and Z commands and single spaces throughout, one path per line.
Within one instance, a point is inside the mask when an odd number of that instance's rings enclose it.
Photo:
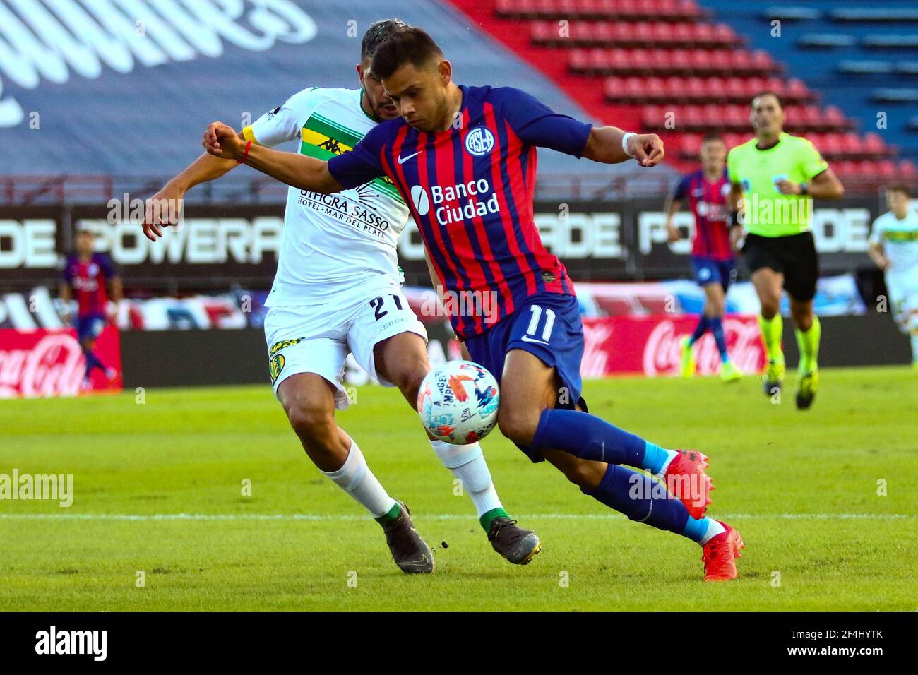
M 388 120 L 353 151 L 332 157 L 329 171 L 344 187 L 380 175 L 395 184 L 418 224 L 453 329 L 465 339 L 533 294 L 574 295 L 533 219 L 536 147 L 579 157 L 591 125 L 512 87 L 459 88 L 462 107 L 449 130 Z

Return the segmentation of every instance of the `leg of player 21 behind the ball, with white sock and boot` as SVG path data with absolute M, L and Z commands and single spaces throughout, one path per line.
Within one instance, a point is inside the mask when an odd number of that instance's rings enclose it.
M 401 332 L 377 343 L 374 360 L 376 371 L 402 392 L 411 410 L 417 411 L 420 383 L 431 372 L 427 345 L 420 335 Z M 542 547 L 539 537 L 530 530 L 522 529 L 504 510 L 481 445 L 448 444 L 430 438 L 430 434 L 428 438 L 443 466 L 462 481 L 463 490 L 475 504 L 478 522 L 485 529 L 494 550 L 517 565 L 525 565 L 532 560 Z

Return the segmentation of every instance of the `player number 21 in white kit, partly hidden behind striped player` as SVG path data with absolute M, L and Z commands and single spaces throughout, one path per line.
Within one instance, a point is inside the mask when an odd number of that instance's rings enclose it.
M 356 145 L 378 122 L 397 118 L 379 78 L 370 72 L 370 60 L 402 28 L 407 28 L 403 22 L 386 19 L 367 29 L 357 65 L 360 89 L 304 89 L 242 129 L 240 142 L 254 148 L 296 139 L 302 155 L 325 160 Z M 155 241 L 166 224 L 153 211 L 157 202 L 179 200 L 188 188 L 238 165 L 207 153 L 198 158 L 151 198 L 147 236 Z M 288 192 L 277 274 L 264 303 L 271 379 L 316 467 L 382 525 L 402 571 L 428 573 L 433 554 L 407 507 L 388 495 L 356 441 L 334 418 L 336 408 L 349 404 L 342 383 L 348 352 L 381 384 L 398 387 L 415 411 L 421 380 L 431 370 L 427 332 L 401 292 L 397 267 L 397 239 L 408 222 L 408 207 L 381 178 L 353 187 L 334 199 L 293 187 Z M 462 480 L 491 546 L 511 563 L 528 563 L 541 548 L 539 538 L 509 518 L 481 446 L 436 440 L 431 446 Z

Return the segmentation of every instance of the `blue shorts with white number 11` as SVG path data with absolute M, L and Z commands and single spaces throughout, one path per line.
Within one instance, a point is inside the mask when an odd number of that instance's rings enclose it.
M 553 366 L 561 379 L 562 388 L 558 391 L 555 407 L 573 410 L 579 403 L 582 410 L 587 410 L 586 401 L 580 398 L 583 323 L 577 297 L 536 293 L 486 332 L 468 338 L 465 346 L 472 360 L 485 366 L 498 383 L 511 349 L 522 349 L 538 356 L 547 366 Z M 545 459 L 538 451 L 520 449 L 533 462 Z

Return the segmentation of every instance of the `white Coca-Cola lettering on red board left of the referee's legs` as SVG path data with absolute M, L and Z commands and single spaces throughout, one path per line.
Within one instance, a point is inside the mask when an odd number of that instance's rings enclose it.
M 644 344 L 644 374 L 675 375 L 678 372 L 681 341 L 689 332 L 677 332 L 676 323 L 660 321 Z M 755 320 L 724 319 L 723 336 L 733 364 L 744 373 L 758 372 L 764 362 L 762 342 Z M 718 372 L 721 354 L 711 333 L 706 333 L 692 346 L 695 363 L 701 375 Z

